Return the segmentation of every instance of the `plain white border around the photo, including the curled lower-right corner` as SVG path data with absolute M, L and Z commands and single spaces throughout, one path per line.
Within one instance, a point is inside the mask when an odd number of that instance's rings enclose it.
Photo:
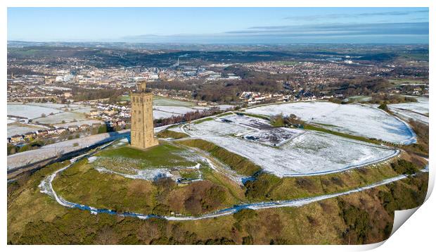
M 305 1 L 279 1 L 279 0 L 252 0 L 252 1 L 243 1 L 243 0 L 210 0 L 210 1 L 201 1 L 201 0 L 155 0 L 155 1 L 134 1 L 134 0 L 63 0 L 63 1 L 54 1 L 54 0 L 6 0 L 1 1 L 1 38 L 4 46 L 1 49 L 1 56 L 3 59 L 3 65 L 1 67 L 1 77 L 3 79 L 2 83 L 3 87 L 3 95 L 1 96 L 2 104 L 6 104 L 6 62 L 7 62 L 7 7 L 429 7 L 429 44 L 434 45 L 434 37 L 435 37 L 435 2 L 431 0 L 406 0 L 406 1 L 388 1 L 388 0 L 354 0 L 354 1 L 339 1 L 339 0 L 331 0 L 331 1 L 323 1 L 323 0 L 305 0 Z M 429 82 L 434 80 L 434 68 L 432 68 L 432 63 L 435 61 L 435 50 L 430 49 L 430 77 Z M 430 100 L 433 101 L 435 99 L 435 95 L 431 92 L 430 89 Z M 434 104 L 430 102 L 430 111 Z M 6 106 L 1 106 L 1 113 L 3 118 L 6 118 Z M 433 113 L 433 112 L 432 112 Z M 430 117 L 430 125 L 435 125 L 434 117 Z M 6 139 L 6 124 L 2 124 L 3 128 L 1 131 L 3 139 Z M 435 134 L 433 134 L 430 128 L 430 142 L 436 143 Z M 430 146 L 432 147 L 432 146 Z M 430 149 L 430 159 L 433 158 L 434 151 L 433 148 Z M 2 153 L 6 153 L 6 144 L 1 145 Z M 6 156 L 3 156 L 2 163 L 3 167 L 6 170 Z M 434 181 L 435 174 L 432 172 L 435 169 L 435 165 L 430 163 L 430 180 Z M 6 171 L 2 172 L 2 179 L 6 182 Z M 430 183 L 429 183 L 430 184 Z M 431 183 L 432 184 L 432 183 Z M 101 247 L 77 247 L 77 246 L 6 246 L 6 229 L 7 229 L 7 204 L 6 204 L 6 187 L 1 187 L 1 197 L 4 202 L 3 208 L 1 208 L 1 216 L 3 217 L 2 225 L 1 225 L 1 237 L 3 240 L 0 246 L 5 247 L 8 250 L 37 250 L 37 251 L 58 251 L 62 249 L 63 251 L 77 251 L 77 249 L 98 249 Z M 434 227 L 432 224 L 436 223 L 435 221 L 435 213 L 436 213 L 436 200 L 435 196 L 430 197 L 428 201 L 423 205 L 423 207 L 416 210 L 416 213 L 411 217 L 410 220 L 404 223 L 403 227 L 400 227 L 395 234 L 385 241 L 383 246 L 383 242 L 379 244 L 371 244 L 364 246 L 274 246 L 275 250 L 280 251 L 288 251 L 290 250 L 299 250 L 299 251 L 361 251 L 368 250 L 371 248 L 378 248 L 379 251 L 428 251 L 428 248 L 434 246 L 434 236 L 433 231 Z M 205 248 L 203 246 L 177 246 L 177 247 L 169 247 L 169 246 L 128 246 L 123 247 L 129 250 L 174 250 L 177 249 L 179 251 L 203 251 Z M 209 251 L 222 251 L 222 249 L 231 250 L 231 251 L 240 251 L 241 249 L 250 249 L 255 251 L 263 250 L 265 247 L 262 246 L 250 246 L 249 248 L 246 246 L 226 246 L 223 248 L 222 246 L 209 246 L 207 250 Z M 120 246 L 105 246 L 103 249 L 107 251 L 118 251 Z

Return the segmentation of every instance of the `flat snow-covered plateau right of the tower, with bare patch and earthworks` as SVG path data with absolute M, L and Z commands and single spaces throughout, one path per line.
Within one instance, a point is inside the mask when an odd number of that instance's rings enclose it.
M 338 172 L 376 163 L 398 153 L 383 146 L 337 137 L 333 134 L 293 129 L 286 129 L 294 131 L 294 134 L 289 136 L 293 139 L 281 146 L 269 146 L 262 141 L 240 137 L 246 134 L 262 136 L 263 131 L 267 130 L 261 127 L 262 124 L 267 125 L 267 122 L 259 118 L 230 115 L 191 124 L 190 130 L 189 127 L 184 127 L 183 130 L 192 137 L 211 141 L 233 153 L 249 158 L 278 177 Z M 262 138 L 268 139 L 268 136 Z

